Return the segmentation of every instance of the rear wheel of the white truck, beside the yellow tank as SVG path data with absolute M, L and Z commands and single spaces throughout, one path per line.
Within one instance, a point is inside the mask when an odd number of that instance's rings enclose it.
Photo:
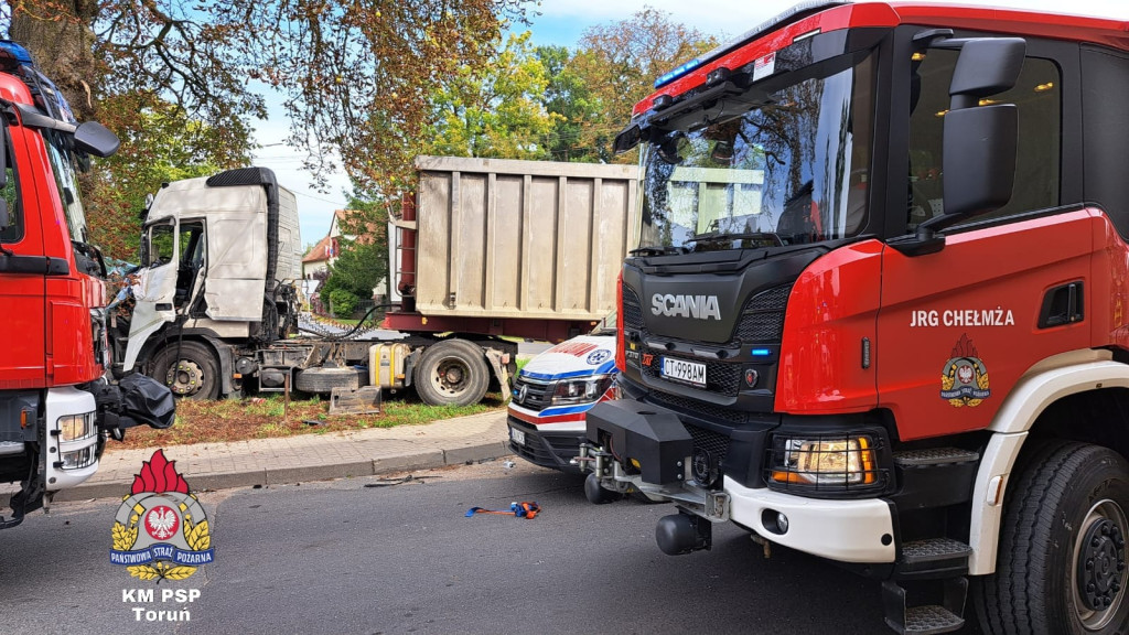
M 415 367 L 415 392 L 431 406 L 469 406 L 482 400 L 490 385 L 490 366 L 482 349 L 465 340 L 431 345 Z

